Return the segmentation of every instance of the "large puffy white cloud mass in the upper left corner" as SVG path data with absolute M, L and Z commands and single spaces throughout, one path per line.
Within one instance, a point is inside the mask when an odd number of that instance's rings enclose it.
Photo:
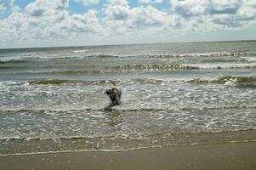
M 95 10 L 69 14 L 68 0 L 37 0 L 0 22 L 0 39 L 61 39 L 100 32 Z M 1 38 L 2 37 L 2 38 Z M 1 40 L 0 40 L 1 41 Z

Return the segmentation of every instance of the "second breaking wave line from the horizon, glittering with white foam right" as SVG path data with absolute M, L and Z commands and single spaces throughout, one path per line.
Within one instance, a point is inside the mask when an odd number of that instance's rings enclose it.
M 27 61 L 17 60 L 8 61 L 9 63 L 23 63 Z M 8 63 L 6 62 L 6 63 Z M 0 63 L 1 64 L 1 63 Z M 134 71 L 150 71 L 150 72 L 161 72 L 161 71 L 175 71 L 175 70 L 221 70 L 221 69 L 255 69 L 256 63 L 236 63 L 236 64 L 211 64 L 211 63 L 198 63 L 198 64 L 128 64 L 128 65 L 116 65 L 112 67 L 105 67 L 101 70 L 94 70 L 94 65 L 91 70 L 83 70 L 84 65 L 67 65 L 69 70 L 62 70 L 62 65 L 37 65 L 36 69 L 54 69 L 54 71 L 20 71 L 20 72 L 9 72 L 9 74 L 59 74 L 59 75 L 81 75 L 81 74 L 122 74 Z M 1 70 L 5 69 L 17 69 L 17 68 L 30 68 L 33 65 L 0 65 Z M 60 67 L 60 68 L 58 68 Z M 57 70 L 59 69 L 59 70 Z M 80 70 L 77 70 L 80 69 Z

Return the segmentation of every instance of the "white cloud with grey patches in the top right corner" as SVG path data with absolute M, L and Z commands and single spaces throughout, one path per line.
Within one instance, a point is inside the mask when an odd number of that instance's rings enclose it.
M 256 1 L 247 0 L 169 0 L 174 14 L 185 18 L 191 26 L 205 25 L 212 28 L 236 28 L 253 23 Z M 254 3 L 253 3 L 254 2 Z M 200 23 L 195 20 L 203 19 Z M 207 31 L 208 31 L 207 30 Z

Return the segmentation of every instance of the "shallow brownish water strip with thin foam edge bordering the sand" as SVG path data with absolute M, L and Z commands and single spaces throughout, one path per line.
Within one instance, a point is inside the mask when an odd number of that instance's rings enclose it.
M 159 147 L 192 146 L 256 142 L 255 130 L 219 133 L 157 133 L 148 139 L 133 138 L 67 138 L 0 140 L 0 157 L 82 151 L 130 151 Z

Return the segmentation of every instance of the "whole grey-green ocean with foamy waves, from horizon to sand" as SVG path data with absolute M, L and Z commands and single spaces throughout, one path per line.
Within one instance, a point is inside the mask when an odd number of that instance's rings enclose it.
M 0 96 L 0 155 L 256 141 L 256 42 L 0 49 Z

